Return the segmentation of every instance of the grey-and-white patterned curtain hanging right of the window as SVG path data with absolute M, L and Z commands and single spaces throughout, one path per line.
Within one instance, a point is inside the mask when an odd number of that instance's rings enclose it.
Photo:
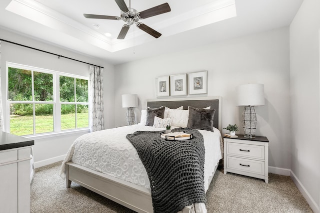
M 102 68 L 90 65 L 90 99 L 91 99 L 91 116 L 90 131 L 95 132 L 103 129 L 103 78 Z

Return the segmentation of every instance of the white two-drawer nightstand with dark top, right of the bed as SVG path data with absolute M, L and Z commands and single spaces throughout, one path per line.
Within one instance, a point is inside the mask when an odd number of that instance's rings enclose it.
M 227 172 L 264 179 L 268 183 L 268 145 L 266 137 L 223 137 L 224 174 Z

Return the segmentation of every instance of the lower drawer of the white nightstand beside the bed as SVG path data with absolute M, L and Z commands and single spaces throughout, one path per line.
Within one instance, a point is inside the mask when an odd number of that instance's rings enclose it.
M 264 175 L 264 162 L 227 156 L 226 168 Z

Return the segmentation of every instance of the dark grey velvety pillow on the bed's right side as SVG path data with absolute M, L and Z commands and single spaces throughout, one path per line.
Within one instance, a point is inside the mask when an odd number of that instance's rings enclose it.
M 213 117 L 215 109 L 198 109 L 189 107 L 187 127 L 213 132 Z

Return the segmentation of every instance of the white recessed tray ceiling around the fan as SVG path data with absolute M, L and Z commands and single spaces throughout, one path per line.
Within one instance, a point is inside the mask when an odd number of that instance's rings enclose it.
M 125 0 L 138 11 L 164 2 L 170 12 L 140 20 L 159 38 L 131 26 L 119 40 L 122 20 L 83 16 L 120 16 L 114 0 L 1 0 L 0 26 L 118 64 L 287 26 L 302 0 Z

